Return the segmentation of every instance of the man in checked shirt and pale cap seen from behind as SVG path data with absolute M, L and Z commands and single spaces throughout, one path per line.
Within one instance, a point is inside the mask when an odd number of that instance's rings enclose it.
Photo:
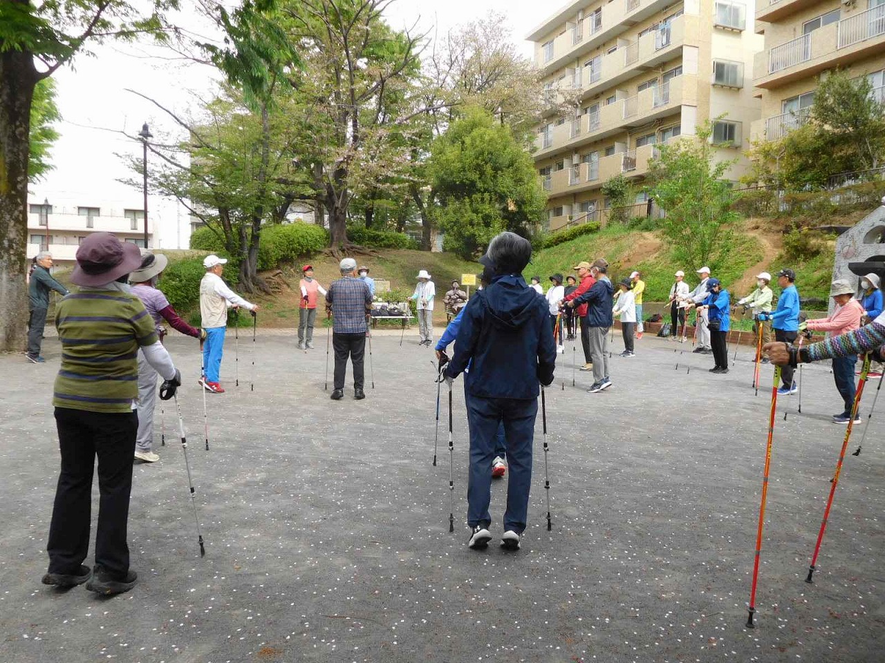
M 332 400 L 344 398 L 347 360 L 353 364 L 353 397 L 366 398 L 363 358 L 366 355 L 367 311 L 372 307 L 372 292 L 361 278 L 353 278 L 357 261 L 344 258 L 338 265 L 341 278 L 333 281 L 326 294 L 326 308 L 332 313 L 332 347 L 335 349 L 335 383 Z

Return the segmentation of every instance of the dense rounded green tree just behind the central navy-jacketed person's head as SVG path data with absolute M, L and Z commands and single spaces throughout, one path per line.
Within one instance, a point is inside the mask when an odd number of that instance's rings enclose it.
M 466 109 L 435 139 L 429 171 L 447 250 L 470 257 L 498 232 L 530 237 L 543 220 L 546 195 L 531 156 L 487 110 Z

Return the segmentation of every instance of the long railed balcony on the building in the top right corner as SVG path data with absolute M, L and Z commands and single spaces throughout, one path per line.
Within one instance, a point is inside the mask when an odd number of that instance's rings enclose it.
M 754 84 L 763 89 L 779 88 L 883 50 L 885 5 L 880 5 L 758 53 L 753 63 Z

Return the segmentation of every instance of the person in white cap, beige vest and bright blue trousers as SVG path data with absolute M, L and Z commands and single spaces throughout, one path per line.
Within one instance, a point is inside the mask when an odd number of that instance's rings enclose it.
M 204 375 L 200 377 L 200 385 L 212 393 L 224 393 L 219 385 L 221 372 L 221 355 L 224 354 L 224 336 L 227 331 L 227 309 L 240 307 L 249 309 L 254 316 L 258 306 L 242 299 L 221 280 L 226 258 L 218 255 L 207 255 L 203 259 L 206 274 L 200 281 L 200 316 L 201 326 L 206 330 L 203 346 Z

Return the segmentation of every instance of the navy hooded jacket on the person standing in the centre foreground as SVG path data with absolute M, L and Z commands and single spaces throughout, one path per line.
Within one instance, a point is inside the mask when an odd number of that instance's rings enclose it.
M 480 398 L 534 400 L 539 382 L 553 382 L 550 309 L 522 277 L 496 277 L 467 302 L 446 375 L 458 377 L 468 364 L 467 390 Z

